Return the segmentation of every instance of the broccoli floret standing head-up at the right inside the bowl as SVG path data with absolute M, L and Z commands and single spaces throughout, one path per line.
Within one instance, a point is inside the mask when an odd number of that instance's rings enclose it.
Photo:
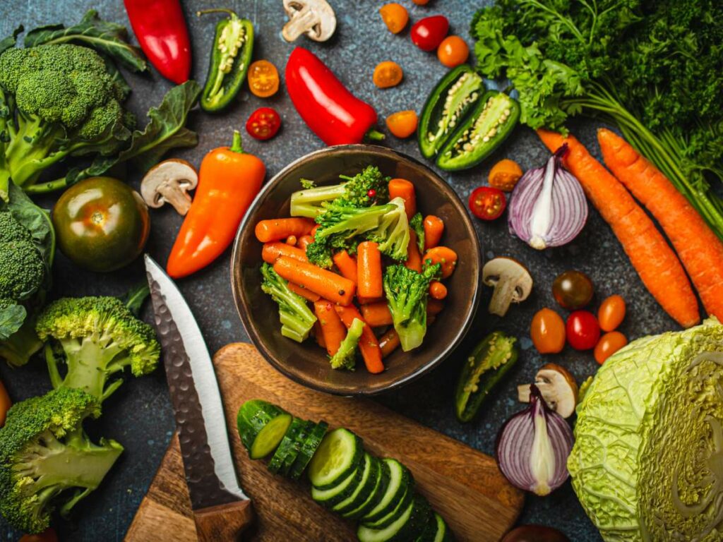
M 390 265 L 384 272 L 384 293 L 392 313 L 402 350 L 422 344 L 427 333 L 427 291 L 441 274 L 440 264 L 427 264 L 421 273 L 403 265 Z

